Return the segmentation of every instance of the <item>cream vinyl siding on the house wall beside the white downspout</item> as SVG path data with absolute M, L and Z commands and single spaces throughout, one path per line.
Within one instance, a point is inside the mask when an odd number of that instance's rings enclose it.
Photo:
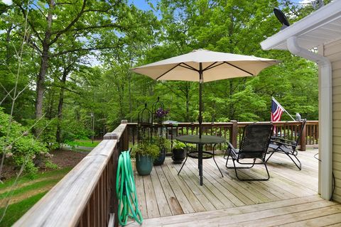
M 332 172 L 335 176 L 333 199 L 341 202 L 341 39 L 324 46 L 332 63 Z

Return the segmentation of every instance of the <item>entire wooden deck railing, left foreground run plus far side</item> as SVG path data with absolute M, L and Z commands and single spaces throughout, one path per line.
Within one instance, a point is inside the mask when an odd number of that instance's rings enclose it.
M 244 127 L 251 122 L 203 123 L 207 135 L 220 135 L 237 145 Z M 301 123 L 276 122 L 276 132 L 295 139 Z M 153 126 L 157 127 L 157 126 Z M 197 134 L 197 123 L 163 126 L 166 135 Z M 122 121 L 112 133 L 53 187 L 14 226 L 118 226 L 116 174 L 121 150 L 137 142 L 137 124 Z M 308 121 L 303 129 L 305 145 L 318 144 L 318 121 Z

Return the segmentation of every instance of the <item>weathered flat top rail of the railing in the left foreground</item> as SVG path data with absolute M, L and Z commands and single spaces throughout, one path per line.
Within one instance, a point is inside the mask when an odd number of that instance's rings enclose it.
M 121 124 L 114 131 L 118 139 L 125 127 L 126 124 Z M 117 142 L 102 140 L 14 226 L 76 226 Z

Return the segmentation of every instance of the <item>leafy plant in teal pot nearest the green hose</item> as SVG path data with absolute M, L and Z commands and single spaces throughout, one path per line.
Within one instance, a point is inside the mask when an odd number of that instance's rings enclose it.
M 139 144 L 134 145 L 131 155 L 136 159 L 137 172 L 145 176 L 151 173 L 153 160 L 158 157 L 159 149 L 157 145 L 141 140 Z

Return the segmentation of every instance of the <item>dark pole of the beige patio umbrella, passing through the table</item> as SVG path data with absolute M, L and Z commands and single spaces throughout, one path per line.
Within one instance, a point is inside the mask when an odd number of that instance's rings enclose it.
M 199 63 L 199 138 L 202 137 L 202 82 L 203 82 L 203 75 L 202 75 L 202 63 Z M 199 176 L 200 176 L 200 185 L 202 185 L 202 143 L 198 144 L 198 162 L 197 165 L 199 167 Z

